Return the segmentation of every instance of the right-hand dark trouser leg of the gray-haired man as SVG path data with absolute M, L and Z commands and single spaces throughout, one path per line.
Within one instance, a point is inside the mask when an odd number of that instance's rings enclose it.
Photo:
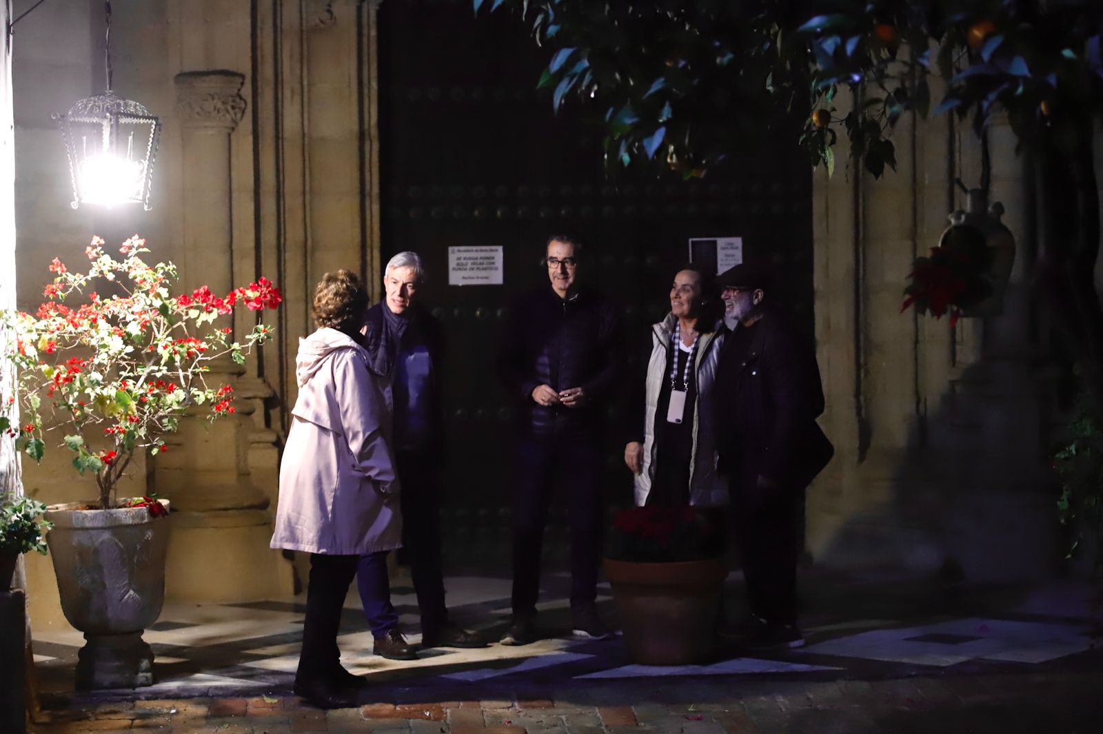
M 403 548 L 421 612 L 421 632 L 448 623 L 440 548 L 439 456 L 429 452 L 395 452 L 401 492 Z

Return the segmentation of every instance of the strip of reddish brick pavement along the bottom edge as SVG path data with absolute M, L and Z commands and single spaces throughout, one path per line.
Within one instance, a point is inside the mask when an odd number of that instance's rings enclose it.
M 1100 734 L 1103 666 L 1081 656 L 1046 669 L 797 681 L 646 681 L 510 690 L 476 700 L 390 689 L 387 700 L 323 712 L 296 697 L 103 703 L 47 711 L 38 734 Z M 448 691 L 452 693 L 453 691 Z M 371 692 L 368 693 L 371 695 Z

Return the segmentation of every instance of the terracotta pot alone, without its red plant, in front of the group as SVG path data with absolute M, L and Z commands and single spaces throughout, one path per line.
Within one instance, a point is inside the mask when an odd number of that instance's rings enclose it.
M 704 662 L 716 639 L 721 559 L 634 563 L 606 559 L 606 578 L 633 662 L 681 666 Z

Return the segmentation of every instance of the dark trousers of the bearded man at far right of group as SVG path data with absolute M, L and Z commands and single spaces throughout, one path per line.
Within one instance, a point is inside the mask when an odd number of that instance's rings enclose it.
M 753 478 L 752 478 L 753 477 Z M 770 624 L 796 624 L 804 488 L 757 487 L 757 475 L 732 481 L 731 512 L 751 614 Z

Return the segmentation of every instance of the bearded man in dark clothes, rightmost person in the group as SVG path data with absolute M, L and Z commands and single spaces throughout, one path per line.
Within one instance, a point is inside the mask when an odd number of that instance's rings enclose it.
M 812 344 L 767 304 L 767 270 L 738 265 L 717 280 L 731 327 L 714 388 L 717 450 L 752 614 L 746 641 L 754 649 L 800 647 L 804 490 L 834 453 L 816 424 L 824 409 L 820 367 Z

